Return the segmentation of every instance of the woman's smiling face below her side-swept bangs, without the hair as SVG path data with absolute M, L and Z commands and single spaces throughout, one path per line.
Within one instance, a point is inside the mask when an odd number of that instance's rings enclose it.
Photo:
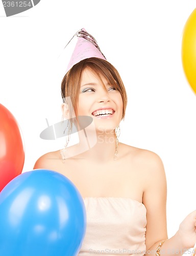
M 93 118 L 97 130 L 114 130 L 122 119 L 122 97 L 105 77 L 86 68 L 81 75 L 77 109 L 79 116 Z

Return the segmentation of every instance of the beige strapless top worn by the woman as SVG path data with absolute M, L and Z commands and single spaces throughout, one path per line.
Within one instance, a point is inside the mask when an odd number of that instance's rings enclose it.
M 86 234 L 78 255 L 145 254 L 146 208 L 130 198 L 85 197 Z

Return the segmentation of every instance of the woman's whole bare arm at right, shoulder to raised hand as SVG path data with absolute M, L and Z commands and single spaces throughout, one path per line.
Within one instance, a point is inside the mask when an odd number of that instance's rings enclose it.
M 155 255 L 161 241 L 167 239 L 166 224 L 166 177 L 164 166 L 158 155 L 147 152 L 145 162 L 145 189 L 143 204 L 147 209 L 147 225 L 145 234 L 146 254 Z M 165 241 L 160 254 L 182 255 L 196 242 L 196 211 L 192 212 L 180 224 L 176 234 Z

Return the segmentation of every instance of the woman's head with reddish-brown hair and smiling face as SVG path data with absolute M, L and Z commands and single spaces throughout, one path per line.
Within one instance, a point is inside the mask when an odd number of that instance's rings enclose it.
M 125 117 L 127 93 L 118 71 L 107 60 L 96 57 L 81 60 L 64 76 L 61 92 L 63 98 L 70 97 L 76 117 L 91 116 L 96 127 L 104 127 L 105 121 L 108 128 L 114 129 Z M 92 114 L 105 107 L 110 108 L 105 116 L 101 116 L 105 112 Z M 72 108 L 68 104 L 68 118 L 73 117 Z

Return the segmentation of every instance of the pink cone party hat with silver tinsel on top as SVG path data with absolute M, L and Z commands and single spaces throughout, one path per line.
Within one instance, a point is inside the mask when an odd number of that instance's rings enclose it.
M 88 34 L 85 29 L 81 29 L 74 36 L 78 37 L 78 41 L 74 52 L 71 55 L 71 59 L 65 73 L 67 73 L 76 63 L 83 59 L 97 57 L 106 60 L 94 37 Z

